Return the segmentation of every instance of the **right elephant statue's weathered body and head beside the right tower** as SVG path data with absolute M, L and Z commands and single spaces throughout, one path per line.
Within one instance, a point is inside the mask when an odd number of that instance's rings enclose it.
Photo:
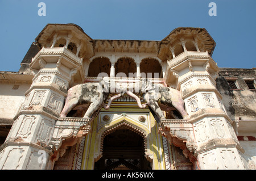
M 169 112 L 175 109 L 180 113 L 183 119 L 188 119 L 180 91 L 172 89 L 171 87 L 165 87 L 162 84 L 143 81 L 141 92 L 143 99 L 146 101 L 156 121 L 159 122 L 161 119 L 166 119 L 162 111 Z M 146 104 L 142 104 L 141 107 L 146 107 Z

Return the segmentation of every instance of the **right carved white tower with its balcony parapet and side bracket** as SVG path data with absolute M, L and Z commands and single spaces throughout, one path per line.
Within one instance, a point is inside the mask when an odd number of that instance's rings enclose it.
M 199 169 L 246 169 L 233 121 L 226 115 L 216 89 L 217 64 L 208 52 L 184 52 L 179 60 L 169 63 L 189 119 L 179 123 L 178 128 L 163 122 L 165 134 L 186 143 Z

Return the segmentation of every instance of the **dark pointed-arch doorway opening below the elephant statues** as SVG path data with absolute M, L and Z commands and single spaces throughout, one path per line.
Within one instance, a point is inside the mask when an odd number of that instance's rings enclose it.
M 121 124 L 114 131 L 106 131 L 102 157 L 94 163 L 94 170 L 151 170 L 145 155 L 142 133 Z

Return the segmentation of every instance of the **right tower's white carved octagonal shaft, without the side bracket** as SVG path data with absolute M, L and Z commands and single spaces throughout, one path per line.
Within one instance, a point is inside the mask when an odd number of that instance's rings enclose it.
M 187 70 L 179 71 L 178 77 L 189 123 L 193 125 L 194 155 L 199 168 L 247 169 L 241 156 L 243 149 L 232 127 L 233 121 L 226 115 L 221 104 L 222 96 L 208 71 L 214 71 L 217 65 L 210 57 L 201 61 L 205 64 L 200 71 L 193 69 L 191 61 Z

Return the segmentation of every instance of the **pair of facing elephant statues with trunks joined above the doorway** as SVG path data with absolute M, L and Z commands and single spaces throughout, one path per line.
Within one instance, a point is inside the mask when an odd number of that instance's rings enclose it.
M 110 94 L 108 79 L 102 79 L 100 82 L 87 82 L 76 85 L 68 90 L 65 106 L 60 113 L 60 117 L 66 117 L 71 110 L 86 110 L 84 118 L 94 119 L 102 107 L 108 110 L 113 100 L 118 99 L 126 93 L 137 101 L 139 108 L 146 108 L 148 106 L 155 120 L 158 122 L 161 119 L 165 119 L 162 111 L 169 112 L 175 109 L 183 119 L 188 118 L 188 114 L 184 110 L 184 101 L 181 98 L 181 92 L 176 89 L 142 79 L 139 82 L 139 94 L 142 95 L 146 104 L 141 104 L 141 100 L 137 96 L 138 93 L 134 94 L 131 89 L 128 89 L 129 87 L 123 86 L 121 89 L 120 87 L 122 86 L 118 86 L 118 89 L 116 89 L 119 94 L 114 95 L 115 92 Z M 105 104 L 106 100 L 108 100 L 108 104 Z

